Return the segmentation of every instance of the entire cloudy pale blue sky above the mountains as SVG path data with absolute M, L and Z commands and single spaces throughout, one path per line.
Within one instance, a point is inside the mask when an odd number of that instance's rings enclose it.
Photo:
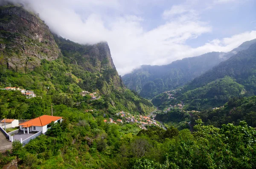
M 9 0 L 81 44 L 107 41 L 120 75 L 256 38 L 255 0 Z

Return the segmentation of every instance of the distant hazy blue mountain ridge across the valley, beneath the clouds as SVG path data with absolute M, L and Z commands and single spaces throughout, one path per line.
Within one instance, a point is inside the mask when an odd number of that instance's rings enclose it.
M 135 90 L 140 96 L 152 98 L 161 92 L 185 85 L 237 52 L 248 49 L 255 42 L 256 40 L 244 42 L 227 53 L 211 52 L 197 57 L 177 60 L 163 66 L 143 65 L 140 69 L 125 74 L 122 79 L 129 89 Z

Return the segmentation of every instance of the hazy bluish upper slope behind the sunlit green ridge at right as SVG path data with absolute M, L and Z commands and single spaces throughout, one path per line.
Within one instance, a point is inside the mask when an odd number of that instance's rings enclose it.
M 247 91 L 254 93 L 254 90 L 256 89 L 255 65 L 256 43 L 252 44 L 249 49 L 239 52 L 233 57 L 230 57 L 227 61 L 220 63 L 212 70 L 195 78 L 191 83 L 189 83 L 187 88 L 195 89 L 218 78 L 230 76 L 235 78 L 237 83 L 244 85 Z

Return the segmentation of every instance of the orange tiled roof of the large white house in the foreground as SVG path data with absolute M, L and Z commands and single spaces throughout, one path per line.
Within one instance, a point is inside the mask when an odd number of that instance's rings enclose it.
M 61 118 L 62 117 L 43 115 L 43 116 L 37 117 L 35 119 L 28 120 L 24 123 L 20 123 L 19 126 L 25 126 L 25 127 L 46 126 L 47 124 L 51 123 L 52 121 L 56 121 Z

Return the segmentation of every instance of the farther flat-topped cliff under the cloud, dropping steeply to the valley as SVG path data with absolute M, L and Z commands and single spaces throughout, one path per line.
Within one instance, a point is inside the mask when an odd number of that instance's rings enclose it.
M 116 71 L 107 42 L 81 45 L 58 36 L 55 36 L 55 41 L 61 49 L 64 62 L 96 74 L 102 93 L 111 93 L 111 86 L 120 92 L 125 87 Z

